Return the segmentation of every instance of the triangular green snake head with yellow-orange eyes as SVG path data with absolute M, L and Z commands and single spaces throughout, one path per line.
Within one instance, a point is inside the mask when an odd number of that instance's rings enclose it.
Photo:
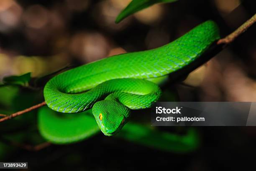
M 130 109 L 118 101 L 98 101 L 92 107 L 92 114 L 106 136 L 118 133 L 130 116 Z

